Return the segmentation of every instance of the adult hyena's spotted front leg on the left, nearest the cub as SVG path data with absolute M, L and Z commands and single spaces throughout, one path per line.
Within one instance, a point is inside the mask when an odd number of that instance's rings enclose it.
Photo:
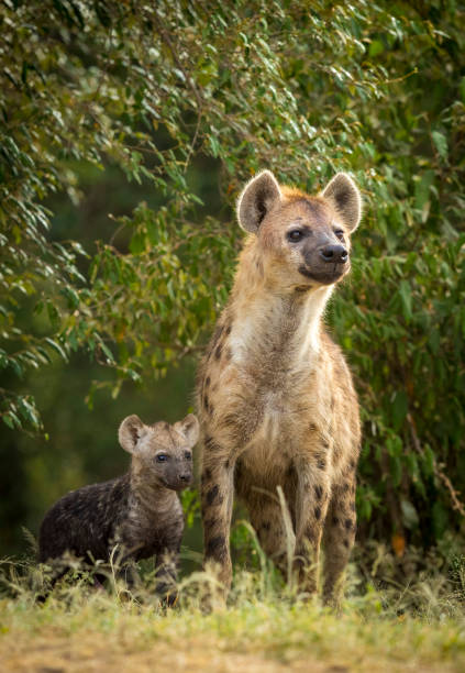
M 201 476 L 204 567 L 213 567 L 228 591 L 232 580 L 230 529 L 234 497 L 234 464 L 229 453 L 207 438 Z

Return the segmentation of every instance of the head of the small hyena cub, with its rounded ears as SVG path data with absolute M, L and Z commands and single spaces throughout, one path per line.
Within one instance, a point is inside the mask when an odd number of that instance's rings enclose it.
M 133 454 L 139 479 L 171 490 L 182 490 L 192 482 L 192 448 L 198 435 L 199 424 L 191 413 L 174 426 L 146 426 L 130 416 L 119 431 L 122 448 Z

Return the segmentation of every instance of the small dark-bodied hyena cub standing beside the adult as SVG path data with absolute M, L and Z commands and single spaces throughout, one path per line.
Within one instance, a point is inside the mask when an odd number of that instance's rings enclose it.
M 41 525 L 40 562 L 52 562 L 63 575 L 66 562 L 53 560 L 66 552 L 93 562 L 109 561 L 114 550 L 121 572 L 131 580 L 130 562 L 156 555 L 157 591 L 167 593 L 175 585 L 184 531 L 177 493 L 191 483 L 198 437 L 192 413 L 174 426 L 125 418 L 119 441 L 132 454 L 129 472 L 71 490 L 53 505 Z

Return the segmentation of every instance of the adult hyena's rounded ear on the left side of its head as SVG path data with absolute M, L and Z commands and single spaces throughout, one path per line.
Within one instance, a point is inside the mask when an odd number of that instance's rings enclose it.
M 270 170 L 262 170 L 250 180 L 237 199 L 237 220 L 242 229 L 257 233 L 266 213 L 281 198 L 281 191 Z

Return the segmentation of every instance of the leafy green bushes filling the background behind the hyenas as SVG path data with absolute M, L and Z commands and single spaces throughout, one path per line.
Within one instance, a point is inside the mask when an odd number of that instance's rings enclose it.
M 230 207 L 262 167 L 313 191 L 350 170 L 366 214 L 330 319 L 363 407 L 361 534 L 429 545 L 458 529 L 461 3 L 5 0 L 0 11 L 4 422 L 41 429 L 16 379 L 51 358 L 86 349 L 118 395 L 202 347 L 240 234 L 231 211 L 203 217 L 201 157 L 221 167 Z M 82 163 L 117 165 L 159 199 L 118 219 L 97 252 L 54 240 L 44 207 L 56 191 L 79 200 Z

